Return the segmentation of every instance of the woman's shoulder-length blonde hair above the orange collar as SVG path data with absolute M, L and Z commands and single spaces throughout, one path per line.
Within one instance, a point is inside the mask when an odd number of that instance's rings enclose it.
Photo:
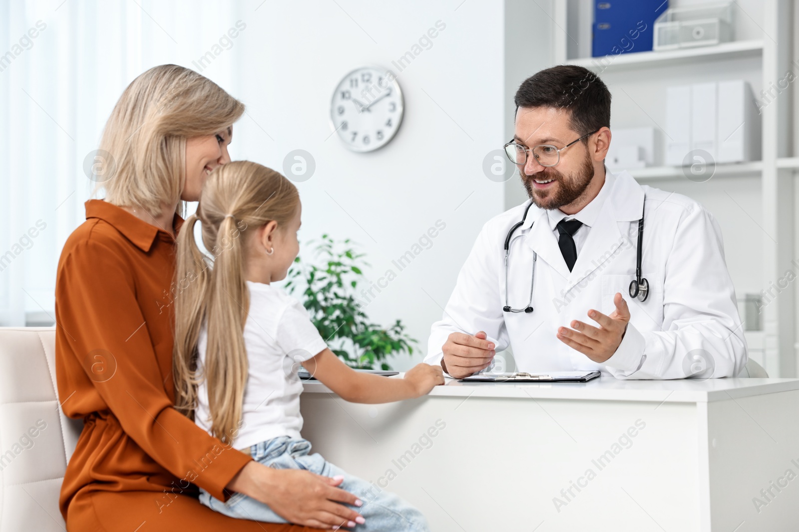
M 100 149 L 115 170 L 97 183 L 105 200 L 161 215 L 162 203 L 180 203 L 186 139 L 213 135 L 233 124 L 244 104 L 193 70 L 160 65 L 128 85 L 105 124 Z

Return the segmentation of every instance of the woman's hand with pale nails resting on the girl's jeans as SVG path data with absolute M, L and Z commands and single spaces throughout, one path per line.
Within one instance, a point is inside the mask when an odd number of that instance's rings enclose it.
M 363 524 L 364 518 L 344 504 L 361 506 L 363 502 L 336 487 L 342 480 L 301 469 L 272 469 L 252 461 L 233 477 L 228 489 L 268 504 L 288 522 L 316 528 L 352 528 L 356 523 Z

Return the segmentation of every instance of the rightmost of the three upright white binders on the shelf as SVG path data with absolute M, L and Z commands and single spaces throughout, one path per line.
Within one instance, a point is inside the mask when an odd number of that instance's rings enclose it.
M 743 80 L 718 82 L 717 163 L 760 160 L 760 114 Z

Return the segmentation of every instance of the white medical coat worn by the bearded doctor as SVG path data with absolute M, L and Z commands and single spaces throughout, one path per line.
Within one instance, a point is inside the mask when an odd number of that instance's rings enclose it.
M 639 185 L 626 171 L 606 178 L 610 195 L 572 271 L 547 223 L 547 211 L 533 205 L 515 231 L 514 237 L 524 236 L 511 245 L 508 304 L 526 305 L 535 250 L 532 313 L 503 312 L 503 244 L 530 200 L 483 226 L 443 318 L 431 327 L 425 362 L 440 364 L 450 333 L 483 330 L 498 353 L 511 346 L 515 370 L 523 372 L 599 369 L 619 379 L 678 379 L 741 371 L 746 364 L 743 326 L 714 217 L 686 196 Z M 628 290 L 635 278 L 638 219 L 645 201 L 642 275 L 650 294 L 641 302 L 630 298 Z M 591 361 L 555 337 L 558 327 L 569 327 L 572 320 L 597 325 L 588 310 L 610 314 L 617 292 L 629 305 L 630 323 L 605 363 Z

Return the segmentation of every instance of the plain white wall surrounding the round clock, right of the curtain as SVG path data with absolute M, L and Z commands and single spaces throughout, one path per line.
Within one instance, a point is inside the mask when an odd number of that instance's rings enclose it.
M 503 211 L 503 183 L 483 175 L 483 157 L 503 137 L 503 2 L 268 2 L 248 7 L 229 57 L 233 94 L 248 105 L 236 125 L 233 153 L 280 170 L 304 149 L 316 173 L 297 183 L 303 203 L 300 241 L 328 232 L 352 238 L 368 254 L 368 277 L 396 279 L 365 307 L 376 322 L 397 318 L 427 351 L 460 266 L 480 227 Z M 245 4 L 244 6 L 249 6 Z M 430 49 L 398 73 L 405 116 L 400 132 L 372 153 L 350 152 L 331 136 L 333 89 L 360 65 L 392 67 L 435 26 Z M 360 27 L 359 27 L 360 26 Z M 217 63 L 203 73 L 214 76 Z M 270 138 L 271 137 L 271 138 Z M 282 170 L 280 170 L 282 171 Z M 446 229 L 409 266 L 392 264 L 437 220 Z M 304 259 L 310 250 L 303 246 Z M 414 361 L 421 361 L 415 353 Z M 411 361 L 398 359 L 396 368 Z

